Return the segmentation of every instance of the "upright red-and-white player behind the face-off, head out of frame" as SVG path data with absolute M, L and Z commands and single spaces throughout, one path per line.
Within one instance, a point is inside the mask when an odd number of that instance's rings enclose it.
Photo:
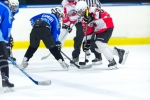
M 77 2 L 76 0 L 63 0 L 62 6 L 64 9 L 65 18 L 63 19 L 63 25 L 62 25 L 62 33 L 60 37 L 65 35 L 66 31 L 69 30 L 69 32 L 72 31 L 70 28 L 73 24 L 75 24 L 76 27 L 76 36 L 74 37 L 74 50 L 72 52 L 72 60 L 78 64 L 79 62 L 79 55 L 80 55 L 80 48 L 83 41 L 83 27 L 81 23 L 81 17 L 77 15 L 75 11 L 75 6 Z M 87 54 L 88 55 L 88 54 Z M 70 62 L 70 65 L 73 66 L 74 64 Z

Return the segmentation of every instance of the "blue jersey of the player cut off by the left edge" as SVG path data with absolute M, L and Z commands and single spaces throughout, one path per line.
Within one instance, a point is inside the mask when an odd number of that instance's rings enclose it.
M 11 10 L 4 2 L 0 2 L 0 41 L 8 43 L 11 28 Z

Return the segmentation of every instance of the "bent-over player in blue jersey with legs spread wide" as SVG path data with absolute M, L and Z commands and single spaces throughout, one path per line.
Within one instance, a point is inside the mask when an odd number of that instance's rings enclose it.
M 40 40 L 42 40 L 46 48 L 49 49 L 60 65 L 68 70 L 69 66 L 65 63 L 60 53 L 61 42 L 58 40 L 61 29 L 60 19 L 63 18 L 63 16 L 61 8 L 55 7 L 51 9 L 51 13 L 41 13 L 30 19 L 33 28 L 30 33 L 30 45 L 21 64 L 22 69 L 28 66 L 30 58 L 32 58 L 36 52 Z

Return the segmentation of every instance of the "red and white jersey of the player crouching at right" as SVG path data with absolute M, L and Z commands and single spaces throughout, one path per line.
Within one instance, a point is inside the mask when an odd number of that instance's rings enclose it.
M 106 11 L 96 7 L 90 7 L 89 13 L 93 13 L 94 20 L 88 24 L 88 34 L 93 30 L 95 34 L 100 34 L 108 28 L 114 28 L 113 20 Z

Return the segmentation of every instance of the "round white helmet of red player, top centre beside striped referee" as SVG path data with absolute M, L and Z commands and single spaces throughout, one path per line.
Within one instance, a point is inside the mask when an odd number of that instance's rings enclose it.
M 87 9 L 88 5 L 85 1 L 79 1 L 76 4 L 75 10 L 78 11 L 85 11 Z

